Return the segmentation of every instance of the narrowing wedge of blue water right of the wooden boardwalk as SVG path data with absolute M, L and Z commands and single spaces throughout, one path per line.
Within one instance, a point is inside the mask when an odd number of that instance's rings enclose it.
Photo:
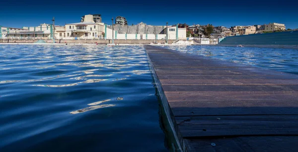
M 298 50 L 295 49 L 219 46 L 166 46 L 165 48 L 234 63 L 298 74 Z

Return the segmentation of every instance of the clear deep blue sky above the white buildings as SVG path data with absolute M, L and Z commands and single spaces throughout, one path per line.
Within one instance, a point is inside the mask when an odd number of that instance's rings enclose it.
M 12 2 L 13 1 L 13 2 Z M 128 24 L 148 25 L 177 23 L 214 26 L 262 25 L 284 23 L 298 28 L 297 0 L 1 0 L 0 25 L 55 25 L 80 22 L 86 14 L 101 14 L 102 21 L 126 17 Z M 115 21 L 115 20 L 114 20 Z

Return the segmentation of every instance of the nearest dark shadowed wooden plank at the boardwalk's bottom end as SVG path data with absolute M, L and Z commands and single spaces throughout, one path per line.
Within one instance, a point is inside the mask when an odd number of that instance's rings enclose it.
M 188 152 L 295 152 L 298 136 L 240 136 L 185 139 Z M 212 146 L 211 144 L 215 144 Z

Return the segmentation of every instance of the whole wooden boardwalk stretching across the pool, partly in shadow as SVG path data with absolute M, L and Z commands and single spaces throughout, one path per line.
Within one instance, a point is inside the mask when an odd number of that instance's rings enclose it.
M 298 75 L 145 46 L 186 152 L 294 152 Z

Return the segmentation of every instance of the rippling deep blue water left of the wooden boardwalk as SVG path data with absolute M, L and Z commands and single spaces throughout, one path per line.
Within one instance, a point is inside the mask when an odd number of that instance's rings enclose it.
M 0 45 L 0 152 L 167 152 L 143 47 Z

